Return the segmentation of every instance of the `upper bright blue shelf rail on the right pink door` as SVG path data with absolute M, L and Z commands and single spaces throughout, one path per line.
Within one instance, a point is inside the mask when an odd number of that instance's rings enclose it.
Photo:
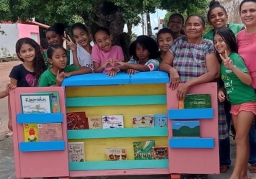
M 171 120 L 177 119 L 213 119 L 213 108 L 209 109 L 169 109 Z

